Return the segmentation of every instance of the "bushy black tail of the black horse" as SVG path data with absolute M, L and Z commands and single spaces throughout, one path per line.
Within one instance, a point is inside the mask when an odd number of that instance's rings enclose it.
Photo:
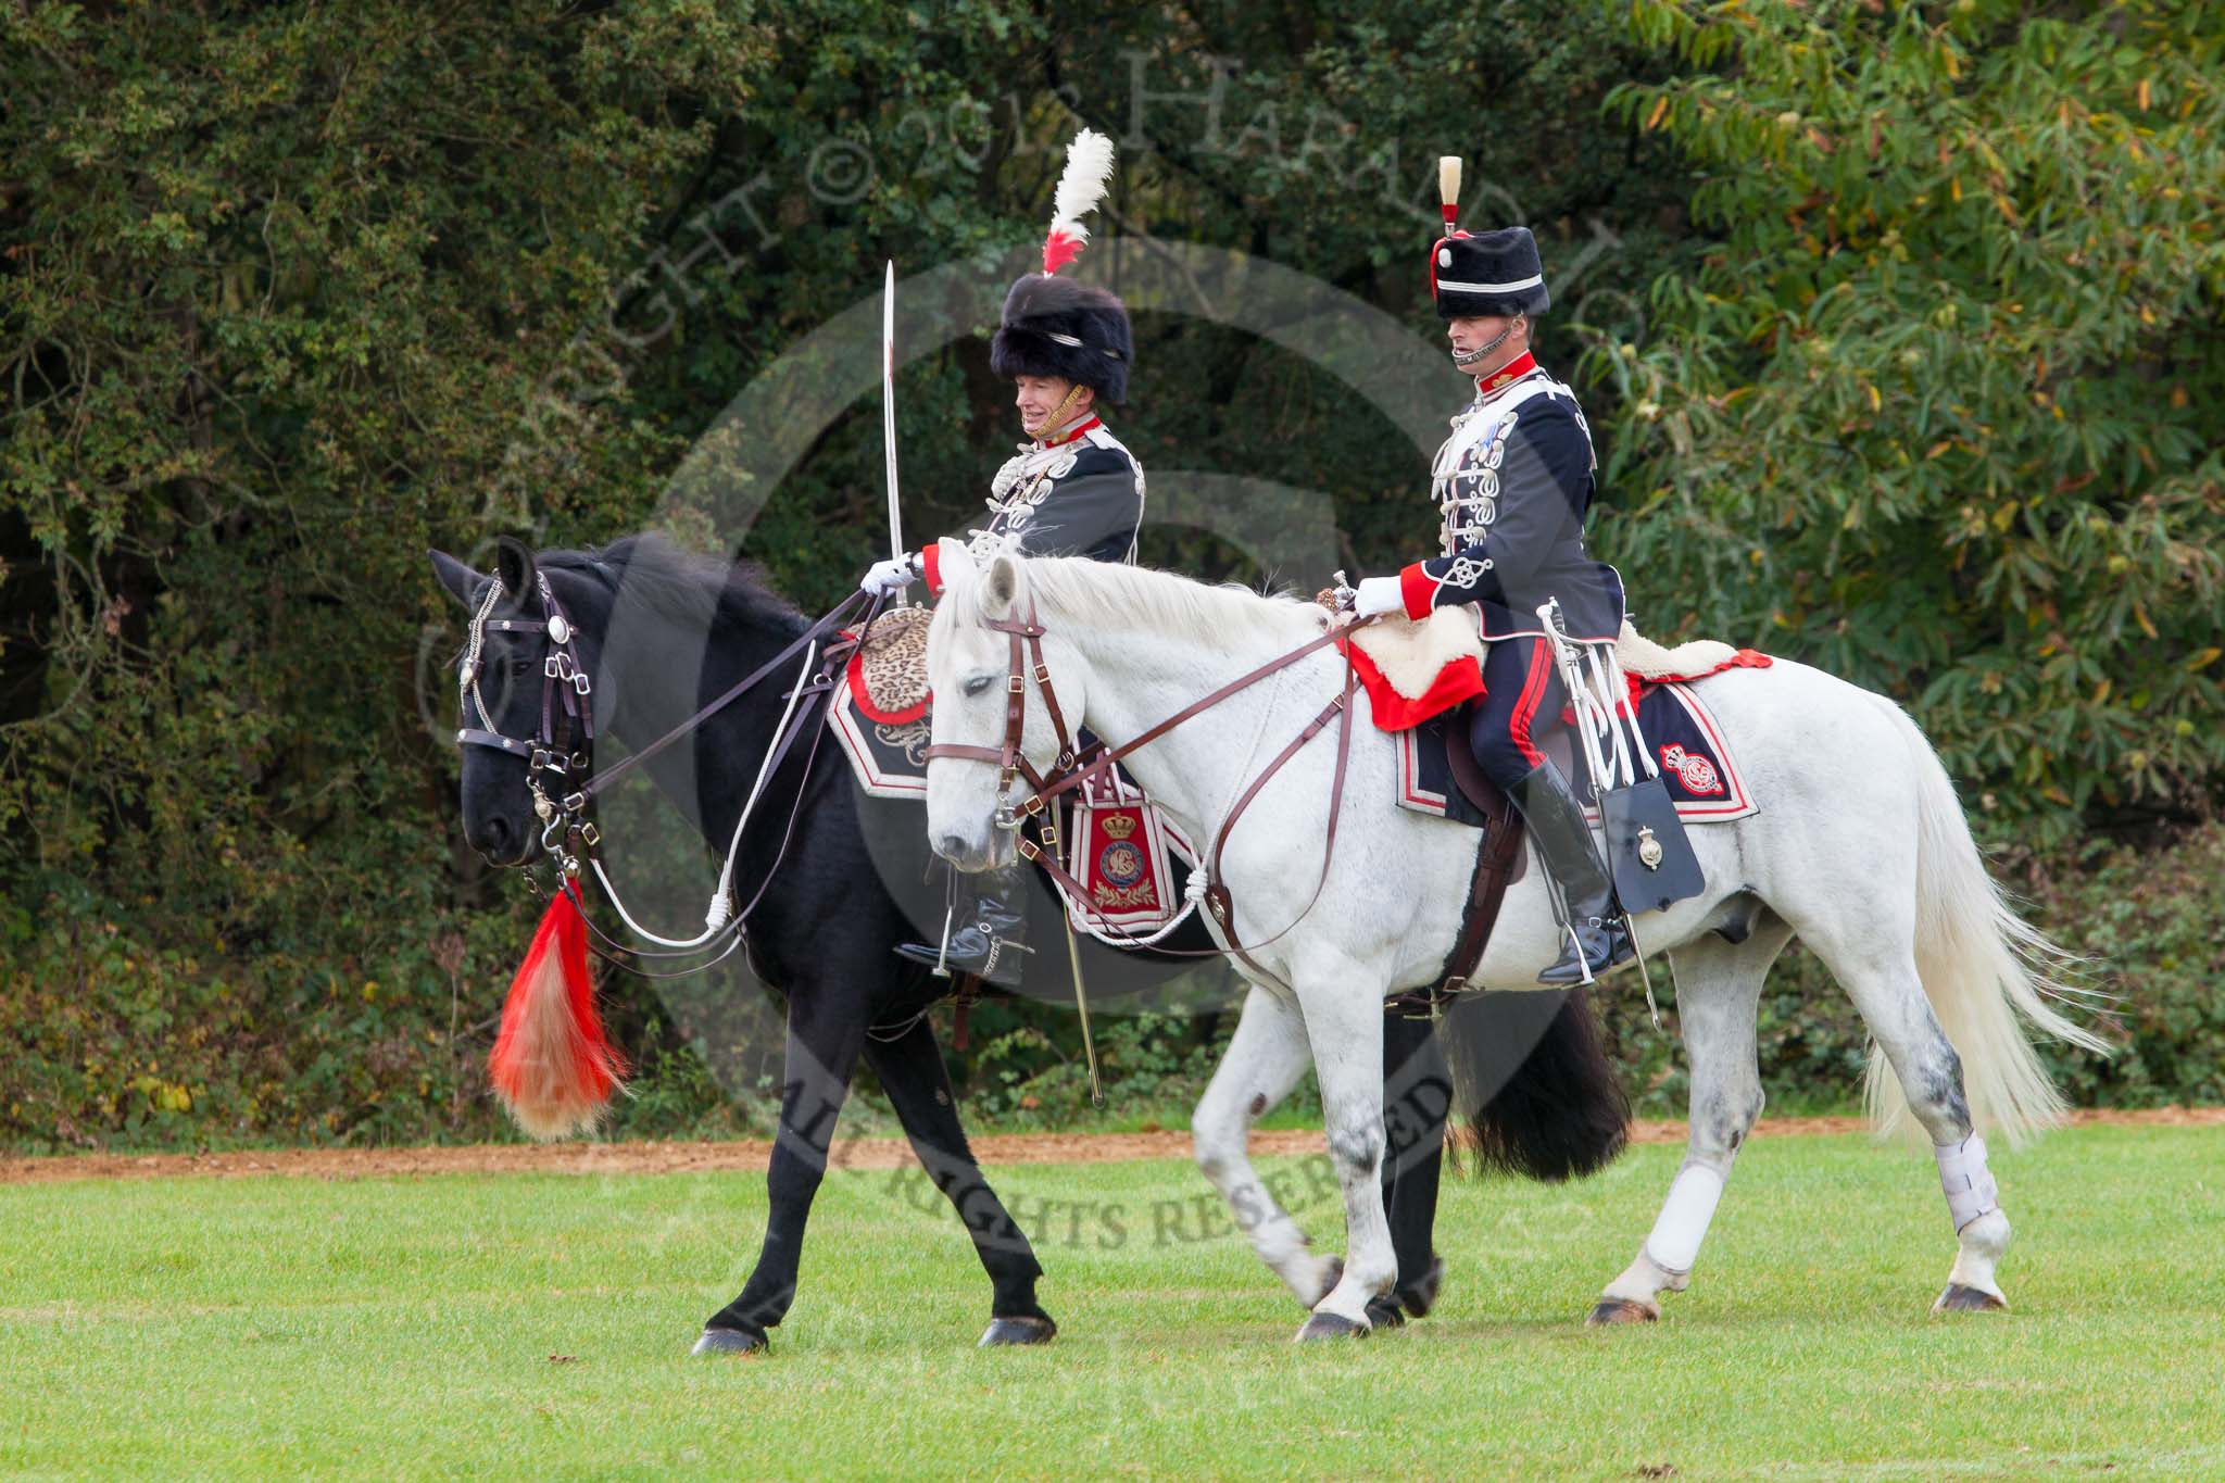
M 1471 994 L 1437 1025 L 1477 1174 L 1598 1174 L 1631 1136 L 1631 1103 L 1584 989 Z M 1457 1158 L 1457 1154 L 1455 1154 Z

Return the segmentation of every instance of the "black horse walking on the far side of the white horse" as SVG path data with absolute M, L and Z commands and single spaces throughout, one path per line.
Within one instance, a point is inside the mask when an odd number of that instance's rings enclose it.
M 432 563 L 441 583 L 476 611 L 494 578 L 443 551 L 434 551 Z M 545 618 L 536 580 L 547 580 L 581 669 L 594 676 L 596 734 L 632 749 L 661 738 L 810 627 L 750 567 L 688 556 L 654 536 L 538 556 L 503 538 L 496 576 L 503 596 L 490 618 L 512 620 Z M 538 736 L 547 645 L 541 631 L 487 625 L 481 694 L 487 723 L 505 736 Z M 783 674 L 750 689 L 683 745 L 645 763 L 714 849 L 732 840 L 781 727 L 792 678 Z M 805 716 L 805 725 L 819 720 Z M 863 798 L 848 765 L 810 745 L 794 745 L 781 758 L 761 796 L 765 803 L 739 843 L 734 880 L 741 900 L 763 887 L 748 918 L 748 961 L 785 996 L 781 1114 L 765 1174 L 763 1250 L 741 1294 L 703 1325 L 696 1352 L 761 1350 L 768 1330 L 788 1314 L 803 1225 L 859 1056 L 879 1076 L 912 1152 L 957 1207 L 988 1272 L 990 1325 L 981 1343 L 1046 1343 L 1057 1325 L 1035 1294 L 1044 1270 L 972 1158 L 926 1014 L 948 996 L 948 981 L 894 954 L 899 943 L 919 938 L 919 927 L 890 892 L 890 872 L 874 865 L 892 829 L 870 829 L 868 809 L 917 816 L 917 807 Z M 917 818 L 899 823 L 910 823 L 926 860 L 923 827 Z M 521 756 L 465 747 L 463 825 L 472 847 L 498 865 L 534 858 L 541 825 Z M 1377 1325 L 1397 1323 L 1400 1310 L 1426 1314 L 1442 1276 L 1431 1225 L 1444 1116 L 1455 1101 L 1444 1052 L 1453 1054 L 1466 1085 L 1495 1087 L 1495 1096 L 1471 1098 L 1480 1103 L 1471 1107 L 1471 1123 L 1482 1165 L 1535 1178 L 1589 1174 L 1620 1149 L 1626 1127 L 1626 1103 L 1582 998 L 1515 994 L 1502 1005 L 1493 996 L 1462 1005 L 1444 1025 L 1453 1034 L 1433 1036 L 1431 1021 L 1411 1014 L 1386 1018 L 1384 1063 L 1400 1096 L 1386 1101 L 1397 1127 L 1384 1181 L 1400 1276 L 1393 1296 L 1371 1310 Z

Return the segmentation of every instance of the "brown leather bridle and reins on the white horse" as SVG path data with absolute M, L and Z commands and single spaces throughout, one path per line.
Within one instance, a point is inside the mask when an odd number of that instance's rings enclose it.
M 1121 743 L 1117 747 L 1106 747 L 1104 743 L 1095 743 L 1088 754 L 1081 754 L 1075 747 L 1072 734 L 1066 729 L 1066 716 L 1059 711 L 1059 696 L 1057 696 L 1057 691 L 1050 685 L 1050 665 L 1044 663 L 1044 634 L 1046 634 L 1046 629 L 1044 629 L 1044 625 L 1041 625 L 1041 620 L 1037 616 L 1035 598 L 1028 598 L 1028 616 L 1026 618 L 983 618 L 981 620 L 981 627 L 986 627 L 990 631 L 997 631 L 997 634 L 1006 634 L 1010 638 L 1010 669 L 1006 674 L 1006 685 L 1003 685 L 1003 694 L 1006 694 L 1006 703 L 1003 703 L 1003 745 L 999 745 L 999 747 L 977 747 L 977 745 L 968 745 L 968 743 L 932 743 L 926 749 L 926 758 L 930 763 L 934 758 L 957 758 L 957 760 L 968 760 L 968 763 L 992 763 L 997 767 L 997 798 L 999 798 L 999 805 L 997 805 L 997 827 L 1012 829 L 1019 836 L 1019 854 L 1021 854 L 1021 858 L 1030 860 L 1032 865 L 1039 865 L 1044 869 L 1044 874 L 1048 874 L 1070 900 L 1075 900 L 1084 912 L 1088 912 L 1090 916 L 1095 916 L 1099 920 L 1099 929 L 1101 932 L 1106 932 L 1108 936 L 1126 938 L 1128 943 L 1141 947 L 1144 945 L 1141 938 L 1137 938 L 1137 934 L 1133 934 L 1133 932 L 1128 932 L 1124 927 L 1117 927 L 1115 923 L 1106 920 L 1104 914 L 1097 912 L 1097 905 L 1090 900 L 1088 887 L 1081 885 L 1079 880 L 1075 880 L 1075 876 L 1068 874 L 1064 865 L 1059 865 L 1059 827 L 1057 827 L 1057 816 L 1055 814 L 1046 816 L 1044 814 L 1046 805 L 1050 805 L 1059 794 L 1066 794 L 1070 789 L 1081 787 L 1090 778 L 1110 774 L 1110 769 L 1121 758 L 1126 758 L 1126 756 L 1130 756 L 1130 754 L 1148 747 L 1150 743 L 1159 740 L 1161 736 L 1166 736 L 1168 731 L 1173 731 L 1175 727 L 1179 727 L 1184 720 L 1193 720 L 1195 716 L 1213 709 L 1222 700 L 1226 700 L 1226 698 L 1230 698 L 1230 696 L 1235 696 L 1235 694 L 1239 694 L 1244 689 L 1250 689 L 1253 685 L 1257 685 L 1259 680 L 1266 680 L 1268 676 L 1275 676 L 1275 674 L 1288 669 L 1290 665 L 1295 665 L 1297 660 L 1306 658 L 1308 654 L 1317 654 L 1319 649 L 1337 645 L 1353 629 L 1364 627 L 1368 623 L 1373 623 L 1373 618 L 1357 618 L 1357 620 L 1346 623 L 1346 625 L 1335 625 L 1326 634 L 1322 634 L 1319 638 L 1313 638 L 1313 640 L 1299 645 L 1297 649 L 1290 649 L 1288 654 L 1279 654 L 1279 656 L 1270 658 L 1268 663 L 1259 665 L 1257 669 L 1248 669 L 1248 671 L 1239 674 L 1237 678 L 1228 680 L 1219 689 L 1215 689 L 1215 691 L 1210 691 L 1210 694 L 1206 694 L 1206 696 L 1202 696 L 1197 700 L 1190 700 L 1179 711 L 1175 711 L 1166 720 L 1159 720 L 1157 725 L 1144 729 L 1135 738 L 1130 738 L 1130 740 L 1126 740 L 1126 743 Z M 1028 663 L 1030 658 L 1032 658 L 1032 667 Z M 1026 754 L 1021 752 L 1021 736 L 1026 734 L 1026 727 L 1028 727 L 1028 678 L 1030 676 L 1035 678 L 1037 687 L 1044 691 L 1044 709 L 1050 711 L 1050 727 L 1052 727 L 1052 731 L 1059 738 L 1059 754 L 1052 758 L 1048 774 L 1039 774 L 1035 769 L 1035 765 L 1028 763 Z M 1306 727 L 1282 752 L 1275 754 L 1275 758 L 1266 765 L 1266 769 L 1262 769 L 1259 776 L 1255 776 L 1250 780 L 1250 785 L 1237 796 L 1235 807 L 1228 809 L 1228 818 L 1222 820 L 1219 832 L 1213 836 L 1213 849 L 1210 849 L 1208 860 L 1199 865 L 1199 869 L 1206 872 L 1206 907 L 1213 912 L 1213 920 L 1219 923 L 1222 938 L 1228 943 L 1226 952 L 1230 952 L 1237 961 L 1242 961 L 1248 969 L 1253 969 L 1255 974 L 1259 974 L 1264 978 L 1273 978 L 1273 974 L 1268 974 L 1264 967 L 1259 967 L 1250 958 L 1250 954 L 1257 952 L 1257 949 L 1262 949 L 1262 947 L 1266 947 L 1268 943 L 1286 936 L 1293 927 L 1297 927 L 1302 920 L 1306 920 L 1306 916 L 1313 912 L 1315 903 L 1319 903 L 1322 889 L 1328 885 L 1328 867 L 1331 867 L 1331 863 L 1335 860 L 1335 854 L 1337 854 L 1337 818 L 1344 812 L 1344 774 L 1346 774 L 1346 765 L 1351 763 L 1351 754 L 1353 754 L 1353 696 L 1357 691 L 1359 691 L 1359 674 L 1353 669 L 1351 649 L 1346 647 L 1346 651 L 1344 651 L 1344 687 L 1337 691 L 1337 696 L 1328 705 L 1322 707 L 1322 711 L 1313 720 L 1306 723 Z M 1235 940 L 1233 903 L 1228 900 L 1228 887 L 1222 883 L 1222 854 L 1228 847 L 1228 836 L 1235 832 L 1237 820 L 1244 818 L 1244 809 L 1250 807 L 1250 800 L 1259 796 L 1259 789 L 1266 787 L 1268 778 L 1273 778 L 1277 772 L 1282 772 L 1284 763 L 1288 763 L 1293 756 L 1297 756 L 1306 747 L 1306 743 L 1311 743 L 1315 736 L 1319 736 L 1322 729 L 1328 727 L 1331 720 L 1337 723 L 1337 772 L 1335 772 L 1335 778 L 1331 780 L 1331 787 L 1328 787 L 1328 832 L 1326 832 L 1324 847 L 1322 847 L 1322 874 L 1313 883 L 1313 896 L 1306 898 L 1306 905 L 1299 909 L 1297 916 L 1290 918 L 1290 923 L 1282 932 L 1277 932 L 1270 938 L 1262 938 L 1257 943 L 1250 943 L 1246 947 L 1246 945 L 1242 945 L 1242 943 Z M 1019 803 L 1008 803 L 1006 794 L 1012 792 L 1012 783 L 1017 778 L 1026 778 L 1026 783 L 1028 783 L 1028 787 L 1032 792 L 1026 798 L 1021 798 Z M 1024 832 L 1024 827 L 1026 827 L 1026 823 L 1030 818 L 1037 820 L 1037 832 L 1041 834 L 1041 840 L 1044 840 L 1041 845 L 1037 845 L 1035 840 L 1030 840 L 1026 836 L 1026 832 Z M 1155 952 L 1161 952 L 1161 954 L 1168 954 L 1168 956 L 1195 956 L 1195 958 L 1219 956 L 1219 949 L 1213 949 L 1213 952 L 1186 952 L 1186 949 L 1179 949 L 1179 947 L 1157 947 Z

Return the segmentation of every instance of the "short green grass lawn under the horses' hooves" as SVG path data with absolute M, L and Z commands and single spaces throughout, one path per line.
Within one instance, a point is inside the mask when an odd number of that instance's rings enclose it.
M 688 1356 L 761 1232 L 716 1176 L 0 1187 L 0 1472 L 728 1476 L 2225 1476 L 2214 1129 L 2000 1152 L 2014 1312 L 1929 1318 L 1931 1161 L 1751 1145 L 1689 1294 L 1578 1318 L 1680 1149 L 1573 1190 L 1457 1183 L 1426 1321 L 1302 1312 L 1188 1165 L 997 1170 L 1044 1223 L 1044 1350 L 917 1174 L 834 1174 L 770 1356 Z M 1299 1181 L 1304 1183 L 1304 1181 Z M 1039 1205 L 1048 1201 L 1050 1205 Z M 1306 1201 L 1319 1238 L 1337 1210 Z

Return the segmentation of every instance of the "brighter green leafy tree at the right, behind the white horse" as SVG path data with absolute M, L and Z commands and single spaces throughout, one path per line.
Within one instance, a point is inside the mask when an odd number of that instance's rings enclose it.
M 1700 171 L 1611 478 L 1667 614 L 1916 707 L 2060 836 L 2225 776 L 2225 13 L 1638 0 Z

